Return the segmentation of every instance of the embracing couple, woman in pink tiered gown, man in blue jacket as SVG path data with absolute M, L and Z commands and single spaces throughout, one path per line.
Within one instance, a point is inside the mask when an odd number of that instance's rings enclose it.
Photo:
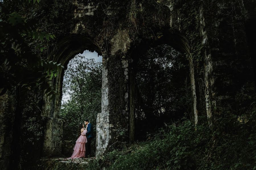
M 78 139 L 75 141 L 73 154 L 68 159 L 89 157 L 91 154 L 91 141 L 93 139 L 93 126 L 89 120 L 85 124 L 79 124 Z M 86 127 L 85 127 L 86 126 Z

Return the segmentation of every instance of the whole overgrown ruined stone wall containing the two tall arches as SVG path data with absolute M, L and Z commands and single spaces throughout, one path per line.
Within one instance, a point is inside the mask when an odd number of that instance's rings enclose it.
M 184 10 L 183 5 L 189 5 L 191 1 L 74 0 L 65 2 L 64 7 L 69 13 L 54 21 L 55 25 L 47 17 L 42 19 L 38 15 L 40 24 L 45 28 L 43 31 L 52 32 L 57 37 L 47 44 L 49 53 L 42 58 L 67 65 L 75 54 L 83 50 L 95 50 L 103 55 L 102 111 L 98 113 L 97 125 L 94 125 L 97 130 L 97 156 L 107 152 L 109 147 L 128 141 L 132 133 L 132 127 L 128 125 L 129 121 L 132 124 L 131 115 L 134 114 L 130 80 L 136 55 L 131 54 L 135 49 L 140 52 L 138 46 L 149 48 L 162 41 L 191 54 L 191 63 L 195 67 L 192 72 L 195 75 L 196 114 L 211 117 L 218 112 L 216 107 L 234 103 L 235 93 L 242 88 L 251 92 L 255 90 L 254 63 L 250 55 L 254 53 L 248 48 L 250 35 L 246 34 L 246 23 L 255 14 L 255 2 L 195 2 L 196 6 L 187 6 L 188 10 Z M 41 3 L 43 7 L 38 7 L 38 12 L 54 6 L 48 5 L 47 1 Z M 194 25 L 186 24 L 189 22 Z M 165 34 L 166 30 L 179 34 Z M 53 100 L 44 99 L 43 111 L 48 117 L 44 152 L 51 156 L 61 154 L 63 122 L 58 119 L 58 114 L 63 73 L 64 70 L 60 70 L 54 80 L 59 94 Z M 1 166 L 4 166 L 8 164 L 11 140 L 11 128 L 6 122 L 12 124 L 12 111 L 7 110 L 12 110 L 15 105 L 6 105 L 8 96 L 1 97 L 0 151 Z

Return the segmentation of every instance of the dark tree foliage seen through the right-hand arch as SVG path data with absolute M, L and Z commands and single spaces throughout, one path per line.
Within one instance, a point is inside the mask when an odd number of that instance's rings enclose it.
M 184 67 L 179 68 L 180 63 Z M 143 113 L 147 117 L 149 112 L 155 116 L 172 114 L 171 117 L 189 114 L 192 96 L 188 70 L 185 57 L 171 46 L 149 49 L 136 65 L 138 119 L 143 119 Z

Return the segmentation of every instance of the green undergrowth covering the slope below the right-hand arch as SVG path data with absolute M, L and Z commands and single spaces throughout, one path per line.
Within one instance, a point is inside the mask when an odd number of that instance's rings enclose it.
M 147 141 L 108 152 L 89 166 L 106 170 L 256 169 L 255 119 L 256 111 L 242 116 L 227 111 L 215 116 L 211 126 L 195 127 L 183 119 Z

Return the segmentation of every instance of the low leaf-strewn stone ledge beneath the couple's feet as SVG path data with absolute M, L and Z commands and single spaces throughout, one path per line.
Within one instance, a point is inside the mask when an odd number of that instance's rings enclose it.
M 37 170 L 82 170 L 88 169 L 88 163 L 92 158 L 42 158 L 38 161 Z

